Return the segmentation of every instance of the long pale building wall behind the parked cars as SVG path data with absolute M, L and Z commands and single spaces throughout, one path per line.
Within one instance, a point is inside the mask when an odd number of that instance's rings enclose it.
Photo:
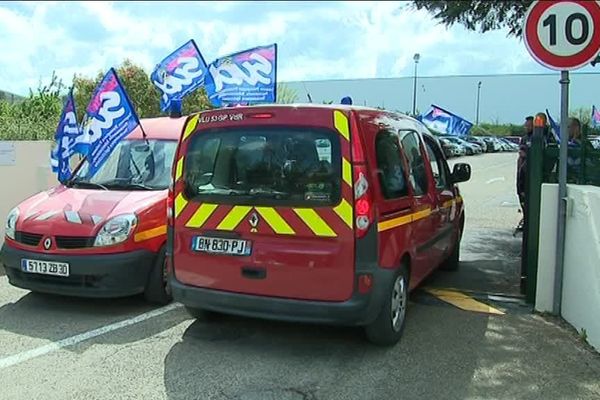
M 600 67 L 598 68 L 600 70 Z M 571 73 L 570 109 L 600 107 L 600 71 Z M 560 116 L 560 72 L 517 75 L 470 75 L 417 77 L 417 110 L 425 112 L 436 104 L 475 122 L 477 85 L 481 82 L 480 122 L 521 124 L 525 116 L 550 112 Z M 385 79 L 344 79 L 286 82 L 305 102 L 307 91 L 313 102 L 339 102 L 350 96 L 354 104 L 410 112 L 413 77 Z

